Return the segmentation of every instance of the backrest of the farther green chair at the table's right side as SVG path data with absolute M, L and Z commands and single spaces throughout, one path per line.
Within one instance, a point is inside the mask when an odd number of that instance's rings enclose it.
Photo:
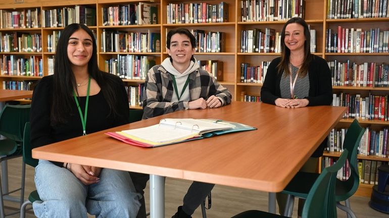
M 346 181 L 337 181 L 336 186 L 336 201 L 344 201 L 350 198 L 358 189 L 359 186 L 359 173 L 358 173 L 358 160 L 357 151 L 358 145 L 361 141 L 365 129 L 362 128 L 357 120 L 354 120 L 347 130 L 345 140 L 343 142 L 343 148 L 349 151 L 347 160 L 350 165 L 350 177 Z M 341 184 L 342 183 L 342 184 Z

